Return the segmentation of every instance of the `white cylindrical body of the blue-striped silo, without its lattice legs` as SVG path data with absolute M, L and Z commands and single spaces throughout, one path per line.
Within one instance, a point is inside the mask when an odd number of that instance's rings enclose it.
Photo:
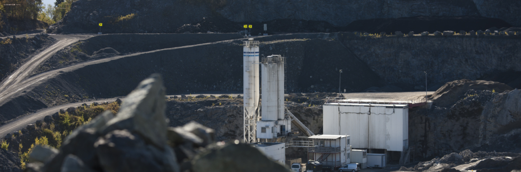
M 243 91 L 244 110 L 248 115 L 255 115 L 259 103 L 259 43 L 249 39 L 243 47 Z

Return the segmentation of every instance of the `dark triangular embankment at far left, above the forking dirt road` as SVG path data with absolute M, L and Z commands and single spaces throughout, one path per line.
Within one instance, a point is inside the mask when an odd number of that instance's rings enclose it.
M 52 45 L 56 40 L 48 38 L 48 35 L 38 35 L 34 38 L 0 38 L 0 78 L 4 80 L 11 72 L 15 71 L 24 62 L 44 48 Z

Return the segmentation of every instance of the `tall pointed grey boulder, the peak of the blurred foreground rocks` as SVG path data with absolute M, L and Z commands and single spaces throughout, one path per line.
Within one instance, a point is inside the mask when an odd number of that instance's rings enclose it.
M 115 118 L 110 119 L 104 133 L 127 129 L 137 132 L 159 148 L 167 145 L 165 121 L 165 88 L 157 73 L 141 81 L 125 99 Z

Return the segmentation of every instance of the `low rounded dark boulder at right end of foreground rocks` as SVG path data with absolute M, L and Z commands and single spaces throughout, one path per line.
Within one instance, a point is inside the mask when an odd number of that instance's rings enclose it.
M 225 171 L 290 171 L 283 165 L 266 157 L 256 148 L 244 143 L 214 145 L 194 157 L 194 172 Z

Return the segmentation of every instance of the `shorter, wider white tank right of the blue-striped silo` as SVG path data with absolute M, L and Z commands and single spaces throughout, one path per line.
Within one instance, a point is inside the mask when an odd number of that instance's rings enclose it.
M 284 57 L 271 55 L 262 64 L 262 120 L 284 119 Z

